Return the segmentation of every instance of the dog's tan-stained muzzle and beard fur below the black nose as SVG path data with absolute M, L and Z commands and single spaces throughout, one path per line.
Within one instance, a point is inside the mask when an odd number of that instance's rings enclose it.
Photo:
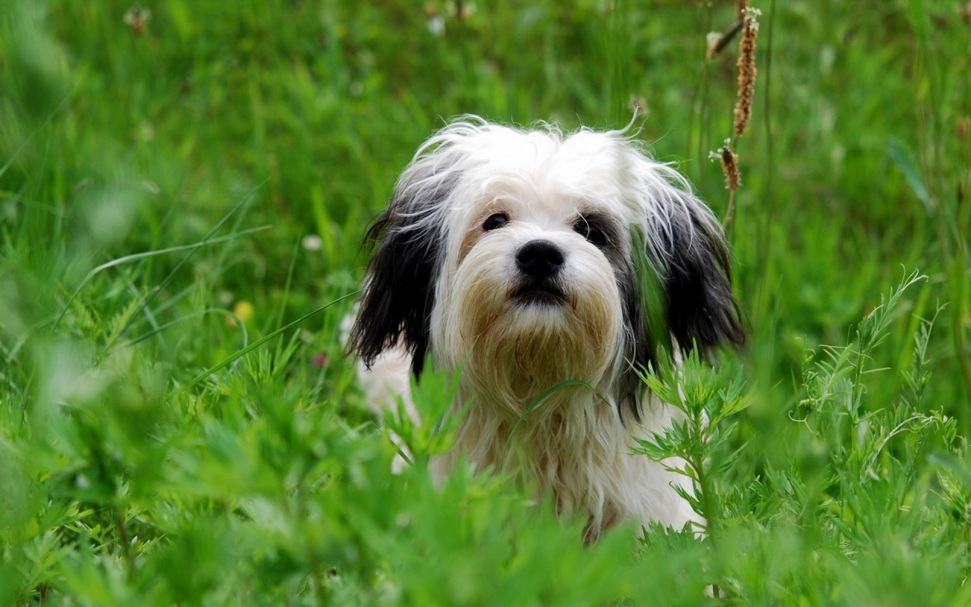
M 607 260 L 571 253 L 571 265 L 554 284 L 563 297 L 517 297 L 504 255 L 473 252 L 453 276 L 442 316 L 446 358 L 464 362 L 461 385 L 485 406 L 519 417 L 544 392 L 566 380 L 592 388 L 610 383 L 622 358 L 622 313 L 614 272 Z M 571 400 L 587 388 L 562 388 L 550 401 Z M 539 407 L 531 416 L 556 410 Z

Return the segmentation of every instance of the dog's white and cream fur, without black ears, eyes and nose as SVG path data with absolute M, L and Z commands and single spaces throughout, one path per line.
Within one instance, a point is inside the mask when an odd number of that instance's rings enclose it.
M 449 473 L 459 453 L 478 466 L 497 468 L 513 426 L 544 391 L 565 380 L 596 389 L 563 388 L 539 404 L 512 436 L 506 471 L 538 483 L 559 512 L 588 518 L 589 537 L 620 521 L 658 521 L 681 528 L 699 519 L 673 489 L 691 490 L 685 477 L 644 455 L 631 455 L 634 437 L 650 436 L 682 419 L 672 406 L 645 395 L 640 423 L 619 412 L 619 380 L 629 370 L 631 327 L 625 325 L 622 268 L 574 230 L 578 216 L 596 215 L 618 227 L 616 256 L 636 258 L 631 230 L 644 235 L 643 258 L 661 272 L 673 241 L 671 215 L 686 205 L 705 229 L 718 231 L 711 213 L 689 194 L 674 169 L 651 160 L 619 132 L 581 130 L 564 137 L 555 127 L 523 131 L 469 117 L 452 123 L 416 154 L 398 185 L 404 198 L 434 199 L 410 208 L 399 228 L 412 238 L 444 234 L 429 352 L 438 369 L 463 362 L 449 415 L 472 402 L 456 436 L 456 449 L 432 462 Z M 483 221 L 505 213 L 510 221 L 485 231 Z M 690 224 L 690 223 L 689 223 Z M 693 236 L 692 236 L 693 237 Z M 700 236 L 699 236 L 700 237 Z M 566 305 L 522 306 L 510 293 L 521 277 L 516 254 L 542 239 L 566 252 L 556 285 Z M 629 280 L 630 277 L 627 277 Z M 400 346 L 362 367 L 368 397 L 405 398 L 410 413 L 410 356 Z M 623 419 L 621 419 L 623 418 Z M 668 462 L 677 464 L 677 462 Z

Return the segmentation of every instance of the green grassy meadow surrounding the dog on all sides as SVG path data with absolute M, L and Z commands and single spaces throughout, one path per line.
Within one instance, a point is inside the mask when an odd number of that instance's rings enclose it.
M 754 6 L 749 343 L 686 369 L 743 409 L 692 448 L 709 533 L 585 547 L 509 479 L 435 488 L 448 428 L 390 473 L 340 342 L 361 239 L 444 118 L 632 97 L 723 216 L 734 3 L 4 0 L 0 604 L 971 602 L 971 4 Z

